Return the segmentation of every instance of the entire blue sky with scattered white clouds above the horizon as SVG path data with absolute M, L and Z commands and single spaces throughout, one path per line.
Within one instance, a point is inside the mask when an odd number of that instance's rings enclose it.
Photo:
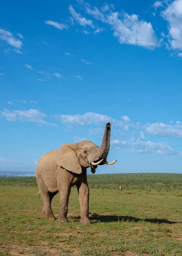
M 3 1 L 0 170 L 101 144 L 97 173 L 182 172 L 182 0 Z M 90 170 L 88 170 L 90 173 Z

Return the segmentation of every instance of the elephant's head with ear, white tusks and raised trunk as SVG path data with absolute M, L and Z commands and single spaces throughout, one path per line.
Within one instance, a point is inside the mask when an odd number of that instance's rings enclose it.
M 108 122 L 105 126 L 105 132 L 100 147 L 88 140 L 82 140 L 79 143 L 68 143 L 60 147 L 56 156 L 56 163 L 64 169 L 80 174 L 82 167 L 91 167 L 95 173 L 97 165 L 114 164 L 107 162 L 107 155 L 110 146 L 111 124 Z

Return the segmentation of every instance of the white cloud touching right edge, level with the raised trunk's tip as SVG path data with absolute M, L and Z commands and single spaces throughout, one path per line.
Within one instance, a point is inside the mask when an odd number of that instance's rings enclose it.
M 153 124 L 146 124 L 143 128 L 148 134 L 159 137 L 182 137 L 181 122 L 176 122 L 174 125 L 156 122 Z

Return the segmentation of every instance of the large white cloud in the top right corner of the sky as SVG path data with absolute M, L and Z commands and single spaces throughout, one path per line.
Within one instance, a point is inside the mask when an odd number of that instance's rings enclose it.
M 168 21 L 169 42 L 171 48 L 182 49 L 182 0 L 174 0 L 162 12 L 162 17 Z

